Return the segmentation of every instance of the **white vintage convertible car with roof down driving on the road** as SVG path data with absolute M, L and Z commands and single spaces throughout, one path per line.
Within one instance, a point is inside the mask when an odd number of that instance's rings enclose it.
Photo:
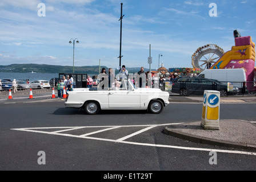
M 121 88 L 77 88 L 67 92 L 66 107 L 84 108 L 87 114 L 99 110 L 148 110 L 161 113 L 169 105 L 169 93 L 155 88 L 136 88 L 123 80 Z

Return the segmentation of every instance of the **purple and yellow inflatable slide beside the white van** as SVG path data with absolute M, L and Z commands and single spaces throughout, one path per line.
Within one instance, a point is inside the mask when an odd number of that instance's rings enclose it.
M 237 30 L 234 31 L 235 46 L 216 61 L 209 69 L 235 69 L 243 68 L 246 73 L 246 81 L 254 81 L 255 65 L 255 43 L 251 36 L 241 36 Z M 247 89 L 253 87 L 253 83 L 247 83 Z

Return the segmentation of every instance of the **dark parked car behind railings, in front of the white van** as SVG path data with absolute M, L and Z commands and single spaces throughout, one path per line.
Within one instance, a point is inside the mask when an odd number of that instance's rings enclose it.
M 227 96 L 228 94 L 238 94 L 239 89 L 233 86 L 233 92 L 227 91 L 227 84 L 223 84 L 218 80 L 211 80 L 208 78 L 179 78 L 173 82 L 173 93 L 178 93 L 182 96 L 189 95 L 203 95 L 205 90 L 218 90 L 221 96 Z

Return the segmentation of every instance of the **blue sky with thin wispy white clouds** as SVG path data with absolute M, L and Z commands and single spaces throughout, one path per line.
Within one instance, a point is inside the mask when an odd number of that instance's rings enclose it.
M 128 68 L 193 68 L 198 47 L 227 52 L 234 30 L 256 42 L 255 0 L 1 0 L 0 65 L 73 66 L 75 39 L 75 67 L 118 68 L 121 3 L 121 65 Z

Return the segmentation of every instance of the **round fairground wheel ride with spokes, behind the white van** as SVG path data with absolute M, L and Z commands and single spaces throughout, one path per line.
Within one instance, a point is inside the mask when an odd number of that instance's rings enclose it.
M 201 71 L 209 69 L 216 61 L 223 56 L 223 49 L 215 44 L 207 44 L 199 47 L 191 57 L 194 68 L 200 68 Z

